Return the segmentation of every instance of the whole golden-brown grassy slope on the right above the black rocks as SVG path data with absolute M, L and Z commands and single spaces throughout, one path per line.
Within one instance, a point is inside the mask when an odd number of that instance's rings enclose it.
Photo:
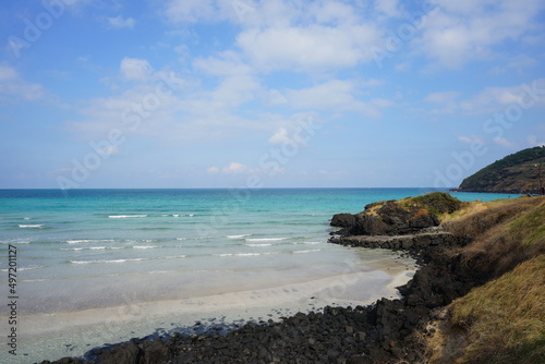
M 462 262 L 496 279 L 435 323 L 435 339 L 426 339 L 429 362 L 545 363 L 545 197 L 474 202 L 445 228 L 471 236 Z

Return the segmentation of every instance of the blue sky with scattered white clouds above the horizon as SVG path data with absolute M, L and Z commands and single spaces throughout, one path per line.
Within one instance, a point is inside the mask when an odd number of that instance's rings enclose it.
M 543 0 L 0 3 L 0 189 L 447 187 L 545 143 Z

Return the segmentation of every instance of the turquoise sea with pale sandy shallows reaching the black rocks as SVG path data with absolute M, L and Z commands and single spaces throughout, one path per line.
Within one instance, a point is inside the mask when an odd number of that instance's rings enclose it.
M 396 298 L 415 262 L 329 244 L 329 220 L 432 191 L 0 190 L 0 362 Z

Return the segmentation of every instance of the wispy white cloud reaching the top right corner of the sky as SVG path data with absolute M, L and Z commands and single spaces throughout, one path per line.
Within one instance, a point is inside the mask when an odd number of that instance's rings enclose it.
M 545 8 L 540 0 L 436 0 L 416 41 L 429 58 L 447 68 L 470 60 L 487 59 L 504 41 L 520 40 L 537 26 L 536 14 Z

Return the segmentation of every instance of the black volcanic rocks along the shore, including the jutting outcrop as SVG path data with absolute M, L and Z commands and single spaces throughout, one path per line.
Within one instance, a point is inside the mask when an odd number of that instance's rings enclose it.
M 487 264 L 480 266 L 479 259 L 470 265 L 461 264 L 463 257 L 459 251 L 470 240 L 437 228 L 438 219 L 432 213 L 424 214 L 416 207 L 401 210 L 388 203 L 386 206 L 383 213 L 387 214 L 377 214 L 377 206 L 362 213 L 367 216 L 343 214 L 346 219 L 340 225 L 344 235 L 332 236 L 329 242 L 403 251 L 415 257 L 422 267 L 409 283 L 398 288 L 402 294 L 400 300 L 382 299 L 365 307 L 327 306 L 323 312 L 299 313 L 281 323 L 250 323 L 227 335 L 133 339 L 95 349 L 85 360 L 66 357 L 53 363 L 419 362 L 425 357 L 422 338 L 435 331 L 428 323 L 444 318 L 441 307 L 486 282 L 494 271 Z M 338 226 L 341 220 L 336 216 L 331 225 Z M 346 222 L 349 220 L 352 222 Z M 361 231 L 359 221 L 386 229 L 390 234 L 350 234 L 351 230 Z M 400 230 L 411 233 L 400 234 Z

